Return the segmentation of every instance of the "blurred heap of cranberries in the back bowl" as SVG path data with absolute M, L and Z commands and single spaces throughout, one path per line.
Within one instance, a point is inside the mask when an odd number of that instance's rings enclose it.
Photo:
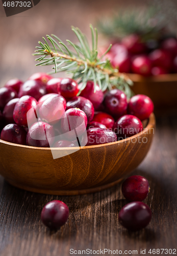
M 177 73 L 177 39 L 143 42 L 139 35 L 128 35 L 114 43 L 106 57 L 121 73 L 143 76 Z

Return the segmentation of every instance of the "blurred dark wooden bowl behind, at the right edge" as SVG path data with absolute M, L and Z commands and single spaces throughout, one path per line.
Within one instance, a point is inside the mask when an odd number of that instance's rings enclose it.
M 135 94 L 145 94 L 153 100 L 155 114 L 176 113 L 177 110 L 177 74 L 144 77 L 128 74 L 134 82 L 132 90 Z

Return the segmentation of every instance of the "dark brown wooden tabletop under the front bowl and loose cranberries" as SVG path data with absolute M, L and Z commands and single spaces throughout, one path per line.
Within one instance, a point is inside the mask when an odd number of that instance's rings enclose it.
M 134 172 L 146 177 L 151 188 L 145 203 L 153 218 L 147 228 L 134 233 L 119 225 L 118 213 L 128 203 L 120 185 L 96 194 L 63 197 L 23 191 L 1 177 L 0 255 L 68 256 L 70 249 L 106 248 L 122 254 L 137 250 L 137 255 L 146 249 L 145 255 L 151 255 L 149 249 L 177 249 L 176 127 L 177 117 L 158 120 L 151 150 Z M 57 232 L 40 221 L 42 207 L 54 199 L 64 201 L 70 210 L 68 222 Z

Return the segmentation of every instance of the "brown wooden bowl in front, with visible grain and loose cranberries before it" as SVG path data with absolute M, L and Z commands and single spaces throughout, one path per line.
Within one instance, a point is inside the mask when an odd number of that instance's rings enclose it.
M 145 129 L 130 138 L 85 146 L 53 159 L 50 148 L 0 140 L 0 174 L 12 185 L 52 195 L 78 195 L 111 187 L 129 175 L 146 156 L 154 136 L 155 116 Z M 53 148 L 65 154 L 78 147 Z

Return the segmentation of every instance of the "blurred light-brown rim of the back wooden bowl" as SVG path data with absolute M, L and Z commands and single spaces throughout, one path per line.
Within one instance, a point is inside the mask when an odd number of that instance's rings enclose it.
M 142 76 L 139 74 L 126 73 L 133 82 L 177 82 L 177 73 L 163 74 L 158 76 Z

